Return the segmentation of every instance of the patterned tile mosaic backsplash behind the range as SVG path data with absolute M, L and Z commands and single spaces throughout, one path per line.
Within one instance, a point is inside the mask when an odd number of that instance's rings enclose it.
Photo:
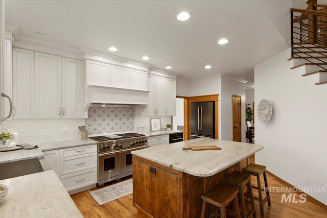
M 90 107 L 85 127 L 88 134 L 134 131 L 134 108 Z

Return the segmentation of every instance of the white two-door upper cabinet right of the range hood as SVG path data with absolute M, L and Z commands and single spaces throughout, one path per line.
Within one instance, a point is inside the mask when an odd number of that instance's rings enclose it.
M 176 80 L 162 76 L 148 76 L 149 105 L 146 116 L 172 116 L 176 113 Z

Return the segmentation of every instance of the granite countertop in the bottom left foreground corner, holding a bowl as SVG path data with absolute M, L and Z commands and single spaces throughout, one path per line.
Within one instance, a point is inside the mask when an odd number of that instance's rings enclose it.
M 9 185 L 1 217 L 83 217 L 53 170 L 1 183 Z

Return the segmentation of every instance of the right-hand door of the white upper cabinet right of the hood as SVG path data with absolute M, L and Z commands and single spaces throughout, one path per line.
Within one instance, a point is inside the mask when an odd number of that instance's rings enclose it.
M 166 115 L 176 115 L 176 80 L 166 79 Z

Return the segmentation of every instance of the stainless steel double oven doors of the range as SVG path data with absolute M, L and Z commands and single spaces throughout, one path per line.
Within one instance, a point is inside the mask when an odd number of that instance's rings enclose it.
M 131 175 L 133 171 L 131 152 L 145 148 L 149 148 L 149 146 L 99 153 L 98 184 Z

